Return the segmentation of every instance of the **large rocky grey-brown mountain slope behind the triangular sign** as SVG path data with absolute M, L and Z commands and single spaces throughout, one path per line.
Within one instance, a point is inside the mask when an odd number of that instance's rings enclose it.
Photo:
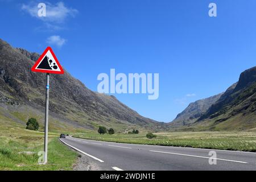
M 46 76 L 31 72 L 38 57 L 37 53 L 15 49 L 0 39 L 2 113 L 15 110 L 20 115 L 24 114 L 24 110 L 28 113 L 36 110 L 43 122 Z M 67 71 L 64 75 L 50 76 L 49 96 L 50 114 L 60 126 L 64 125 L 64 121 L 70 127 L 81 129 L 96 129 L 98 125 L 104 125 L 123 130 L 133 127 L 154 130 L 159 126 L 158 122 L 142 117 L 114 96 L 92 92 Z M 10 113 L 11 116 L 16 117 Z M 21 120 L 25 122 L 26 119 Z M 20 121 L 20 117 L 16 117 L 16 120 Z

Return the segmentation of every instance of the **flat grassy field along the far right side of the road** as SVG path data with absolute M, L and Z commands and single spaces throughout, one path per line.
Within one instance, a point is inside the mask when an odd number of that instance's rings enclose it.
M 256 133 L 254 132 L 200 131 L 154 134 L 157 135 L 157 138 L 155 139 L 147 139 L 146 133 L 118 133 L 113 135 L 100 135 L 97 133 L 76 133 L 73 134 L 73 137 L 118 143 L 256 152 Z

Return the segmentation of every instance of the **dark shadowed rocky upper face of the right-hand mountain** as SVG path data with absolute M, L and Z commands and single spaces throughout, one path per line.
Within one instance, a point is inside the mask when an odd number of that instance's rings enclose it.
M 238 114 L 256 116 L 256 67 L 242 72 L 239 81 L 230 86 L 228 90 L 213 104 L 198 121 L 216 118 L 222 122 Z M 222 116 L 222 117 L 220 117 Z

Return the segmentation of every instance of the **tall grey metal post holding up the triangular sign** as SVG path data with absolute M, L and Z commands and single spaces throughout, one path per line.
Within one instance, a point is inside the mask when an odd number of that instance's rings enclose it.
M 47 163 L 47 151 L 48 151 L 48 113 L 49 113 L 49 73 L 46 73 L 46 115 L 44 120 L 44 164 Z

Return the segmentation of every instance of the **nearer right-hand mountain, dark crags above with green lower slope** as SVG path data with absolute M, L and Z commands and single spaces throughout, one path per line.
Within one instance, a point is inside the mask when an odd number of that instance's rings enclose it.
M 183 114 L 187 113 L 185 117 L 193 117 L 193 113 L 187 110 L 183 111 Z M 239 81 L 230 86 L 199 118 L 187 126 L 175 123 L 177 121 L 170 123 L 172 130 L 255 130 L 256 67 L 242 72 Z

